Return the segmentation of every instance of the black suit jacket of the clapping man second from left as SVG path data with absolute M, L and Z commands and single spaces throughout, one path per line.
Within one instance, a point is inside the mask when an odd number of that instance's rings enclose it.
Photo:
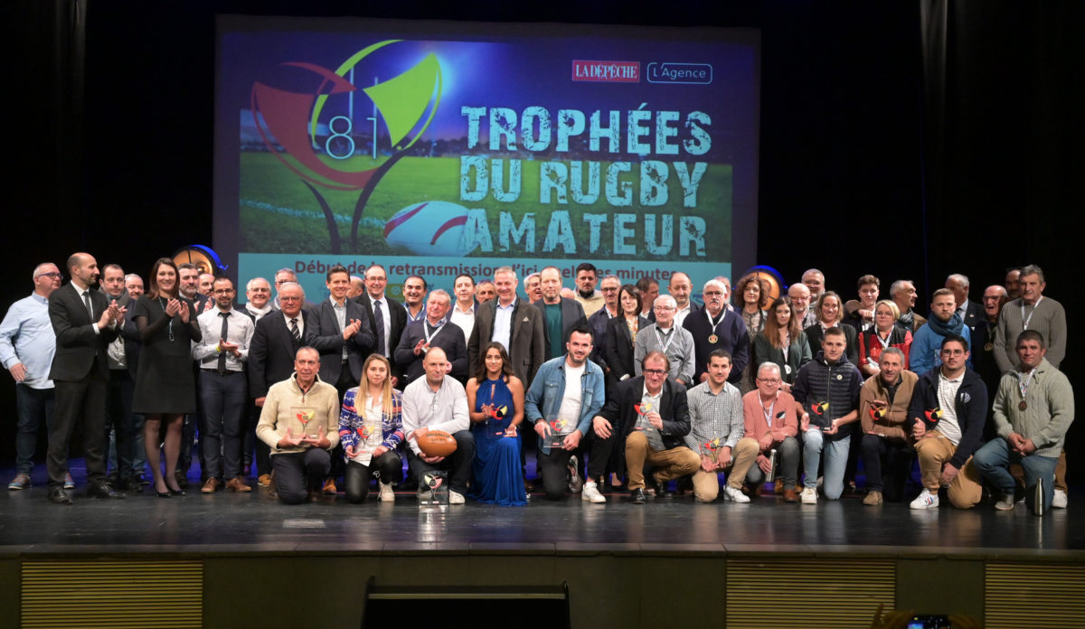
M 102 376 L 108 378 L 110 362 L 106 349 L 117 338 L 117 331 L 105 328 L 94 333 L 102 312 L 110 307 L 101 292 L 90 288 L 90 306 L 94 312 L 91 320 L 82 295 L 71 282 L 53 291 L 49 296 L 49 320 L 56 334 L 56 354 L 49 370 L 50 380 L 78 382 L 87 377 L 98 359 Z

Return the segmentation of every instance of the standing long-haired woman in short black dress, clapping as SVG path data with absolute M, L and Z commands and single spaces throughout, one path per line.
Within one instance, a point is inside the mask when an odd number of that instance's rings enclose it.
M 143 442 L 154 473 L 159 498 L 184 496 L 174 472 L 181 450 L 181 424 L 187 413 L 196 412 L 195 375 L 192 372 L 192 342 L 201 339 L 195 307 L 178 293 L 177 266 L 158 258 L 151 268 L 146 294 L 136 303 L 132 319 L 143 348 L 136 374 L 132 412 L 145 418 Z M 166 423 L 166 474 L 158 457 L 158 435 Z M 173 485 L 170 485 L 173 484 Z

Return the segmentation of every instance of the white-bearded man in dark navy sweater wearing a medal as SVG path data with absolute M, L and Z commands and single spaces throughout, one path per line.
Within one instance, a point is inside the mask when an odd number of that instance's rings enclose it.
M 746 335 L 745 322 L 741 316 L 727 308 L 730 290 L 720 280 L 705 282 L 702 295 L 704 308 L 691 313 L 682 322 L 682 328 L 693 337 L 697 365 L 693 382 L 709 380 L 709 356 L 723 349 L 731 357 L 731 375 L 727 382 L 738 386 L 742 380 L 742 370 L 750 361 L 750 337 Z

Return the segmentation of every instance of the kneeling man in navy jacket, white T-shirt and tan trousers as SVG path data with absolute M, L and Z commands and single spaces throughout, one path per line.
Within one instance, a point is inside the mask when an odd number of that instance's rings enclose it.
M 908 406 L 923 490 L 912 509 L 937 509 L 939 488 L 949 488 L 949 502 L 968 509 L 983 487 L 972 453 L 983 440 L 987 386 L 968 368 L 968 341 L 955 334 L 942 339 L 942 364 L 920 374 Z

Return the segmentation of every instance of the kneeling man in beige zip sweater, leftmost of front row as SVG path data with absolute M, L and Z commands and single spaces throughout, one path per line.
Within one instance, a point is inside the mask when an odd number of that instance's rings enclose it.
M 271 448 L 275 488 L 286 504 L 319 496 L 331 470 L 330 450 L 339 444 L 339 394 L 320 381 L 319 371 L 320 354 L 298 349 L 294 373 L 268 389 L 256 426 L 256 436 Z

